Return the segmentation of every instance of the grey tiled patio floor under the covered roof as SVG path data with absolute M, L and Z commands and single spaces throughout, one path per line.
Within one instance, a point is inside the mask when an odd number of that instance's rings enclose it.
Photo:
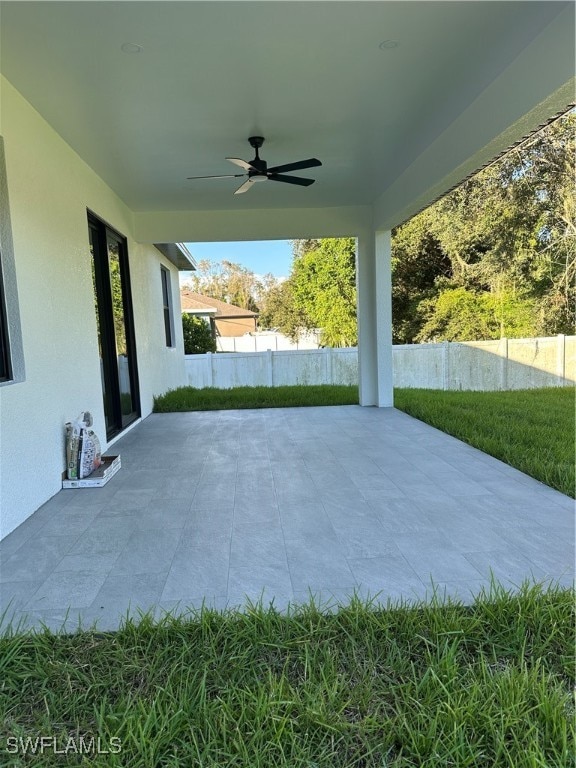
M 0 543 L 5 622 L 573 583 L 572 499 L 394 409 L 155 414 L 109 453 Z

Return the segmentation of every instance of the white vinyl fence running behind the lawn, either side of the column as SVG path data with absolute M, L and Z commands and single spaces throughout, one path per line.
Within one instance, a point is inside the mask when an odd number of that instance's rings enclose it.
M 312 349 L 186 355 L 192 387 L 357 384 L 358 350 Z M 576 336 L 404 344 L 392 349 L 394 386 L 504 390 L 576 381 Z

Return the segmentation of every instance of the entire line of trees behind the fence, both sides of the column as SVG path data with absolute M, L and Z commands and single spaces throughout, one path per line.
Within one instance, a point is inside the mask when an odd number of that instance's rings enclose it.
M 576 116 L 569 113 L 392 231 L 396 344 L 572 334 Z M 292 241 L 286 280 L 200 262 L 191 287 L 292 338 L 357 343 L 354 238 Z

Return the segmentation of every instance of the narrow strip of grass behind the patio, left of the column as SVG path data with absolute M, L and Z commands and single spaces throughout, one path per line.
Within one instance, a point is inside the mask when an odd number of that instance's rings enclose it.
M 358 387 L 309 385 L 293 387 L 180 387 L 154 398 L 155 413 L 225 411 L 236 408 L 292 408 L 314 405 L 357 405 Z

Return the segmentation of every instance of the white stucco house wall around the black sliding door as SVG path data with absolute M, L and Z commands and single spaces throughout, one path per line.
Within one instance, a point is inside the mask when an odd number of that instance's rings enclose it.
M 16 263 L 25 380 L 0 388 L 0 537 L 61 487 L 64 423 L 82 410 L 106 446 L 86 211 L 128 238 L 142 416 L 185 383 L 182 331 L 165 344 L 160 264 L 133 239 L 133 214 L 4 79 L 0 135 Z

